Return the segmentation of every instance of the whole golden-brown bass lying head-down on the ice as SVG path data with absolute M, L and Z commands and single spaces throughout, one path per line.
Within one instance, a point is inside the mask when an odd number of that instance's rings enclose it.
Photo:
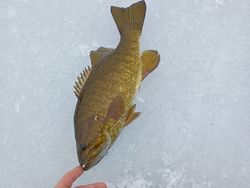
M 77 77 L 74 131 L 79 164 L 87 171 L 108 153 L 122 130 L 140 116 L 133 100 L 160 62 L 156 50 L 140 52 L 145 1 L 127 8 L 111 6 L 120 33 L 116 48 L 90 52 L 91 66 Z

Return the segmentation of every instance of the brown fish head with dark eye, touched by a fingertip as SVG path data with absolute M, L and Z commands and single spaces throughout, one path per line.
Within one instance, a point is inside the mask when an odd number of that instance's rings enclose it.
M 108 131 L 103 130 L 104 122 L 96 116 L 87 120 L 88 130 L 83 131 L 77 143 L 77 153 L 80 165 L 84 170 L 95 166 L 107 154 L 111 145 L 111 137 Z

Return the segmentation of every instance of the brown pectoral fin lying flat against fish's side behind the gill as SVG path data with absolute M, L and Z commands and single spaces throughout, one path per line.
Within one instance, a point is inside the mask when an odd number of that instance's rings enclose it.
M 120 95 L 118 95 L 110 103 L 107 113 L 107 120 L 112 118 L 115 121 L 118 121 L 123 113 L 124 113 L 123 99 Z

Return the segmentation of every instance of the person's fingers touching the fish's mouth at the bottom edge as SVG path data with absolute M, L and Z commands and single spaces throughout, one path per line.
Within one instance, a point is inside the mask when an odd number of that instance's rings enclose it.
M 74 181 L 77 180 L 83 173 L 81 166 L 73 168 L 71 171 L 67 172 L 56 184 L 55 188 L 71 188 Z M 75 188 L 107 188 L 105 183 L 93 183 L 89 185 L 79 185 Z

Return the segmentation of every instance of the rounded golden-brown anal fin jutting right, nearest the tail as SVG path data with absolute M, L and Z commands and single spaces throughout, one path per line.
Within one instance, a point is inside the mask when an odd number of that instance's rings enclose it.
M 160 54 L 156 50 L 146 50 L 141 55 L 142 80 L 151 73 L 160 62 Z

